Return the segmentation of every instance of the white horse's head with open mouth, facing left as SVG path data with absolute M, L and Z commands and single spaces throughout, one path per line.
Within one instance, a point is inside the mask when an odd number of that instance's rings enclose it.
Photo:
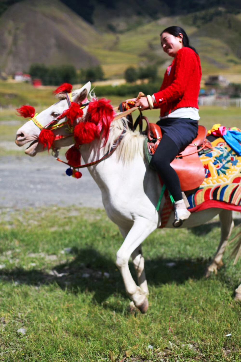
M 72 92 L 72 101 L 81 104 L 90 92 L 91 83 L 86 83 L 82 88 L 74 90 Z M 53 147 L 61 148 L 70 146 L 73 144 L 73 133 L 70 132 L 69 124 L 64 122 L 64 119 L 59 119 L 65 110 L 69 108 L 69 104 L 66 100 L 66 96 L 59 95 L 60 100 L 43 110 L 41 113 L 31 116 L 30 121 L 26 122 L 17 131 L 15 143 L 17 146 L 23 146 L 26 143 L 30 143 L 29 147 L 26 148 L 25 153 L 29 156 L 35 156 L 36 153 L 42 152 L 48 149 L 39 142 L 39 135 L 42 129 L 48 127 L 48 125 L 55 123 L 55 127 L 52 127 L 53 135 L 55 139 L 53 141 Z M 87 109 L 83 109 L 85 114 Z M 54 122 L 56 120 L 56 122 Z M 64 124 L 64 126 L 61 126 Z M 61 126 L 61 127 L 60 127 Z

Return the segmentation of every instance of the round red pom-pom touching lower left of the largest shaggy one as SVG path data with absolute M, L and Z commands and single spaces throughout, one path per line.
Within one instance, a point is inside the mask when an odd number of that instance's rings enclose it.
M 92 122 L 79 122 L 74 127 L 74 138 L 77 144 L 90 143 L 97 136 L 97 127 Z

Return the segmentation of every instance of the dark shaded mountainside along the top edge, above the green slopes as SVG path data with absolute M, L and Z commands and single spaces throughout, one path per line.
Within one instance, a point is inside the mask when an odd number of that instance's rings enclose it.
M 241 11 L 240 0 L 91 0 L 82 1 L 81 6 L 79 0 L 61 1 L 99 29 L 117 33 L 161 16 L 183 16 L 220 6 L 230 13 Z

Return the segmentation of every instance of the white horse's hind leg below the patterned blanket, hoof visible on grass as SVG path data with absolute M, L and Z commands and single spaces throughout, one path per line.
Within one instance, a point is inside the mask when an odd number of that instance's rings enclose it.
M 211 265 L 207 268 L 206 276 L 209 277 L 211 273 L 217 274 L 218 269 L 223 266 L 223 254 L 226 249 L 228 239 L 231 235 L 234 222 L 233 222 L 233 215 L 232 211 L 230 210 L 222 210 L 219 214 L 219 219 L 221 223 L 221 240 L 216 251 L 215 257 L 211 263 Z

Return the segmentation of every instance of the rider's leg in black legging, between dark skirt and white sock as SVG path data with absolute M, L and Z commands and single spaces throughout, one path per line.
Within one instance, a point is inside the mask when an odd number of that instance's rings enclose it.
M 179 177 L 170 165 L 170 163 L 178 155 L 179 151 L 180 150 L 178 150 L 176 143 L 164 134 L 151 159 L 151 166 L 162 178 L 174 201 L 182 199 Z

